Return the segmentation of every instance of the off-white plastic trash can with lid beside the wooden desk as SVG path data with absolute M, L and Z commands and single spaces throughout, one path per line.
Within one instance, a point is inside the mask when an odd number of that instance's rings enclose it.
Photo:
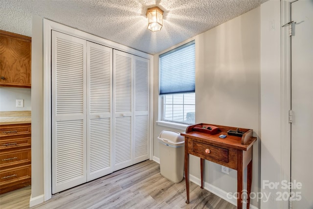
M 183 179 L 185 138 L 179 132 L 164 130 L 160 133 L 160 173 L 177 184 Z

